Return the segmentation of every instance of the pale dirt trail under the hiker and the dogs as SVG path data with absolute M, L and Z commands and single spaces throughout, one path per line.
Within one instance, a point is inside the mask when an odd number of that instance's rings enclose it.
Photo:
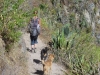
M 25 33 L 23 35 L 23 38 L 25 40 L 26 47 L 31 48 L 29 34 Z M 30 75 L 43 75 L 43 66 L 41 64 L 40 52 L 45 46 L 46 46 L 46 44 L 44 44 L 44 42 L 41 41 L 41 39 L 39 38 L 36 53 L 31 53 L 31 52 L 27 51 L 27 53 L 28 53 L 28 70 L 29 70 L 28 72 Z M 64 70 L 64 69 L 61 65 L 53 63 L 51 75 L 64 75 L 62 70 Z

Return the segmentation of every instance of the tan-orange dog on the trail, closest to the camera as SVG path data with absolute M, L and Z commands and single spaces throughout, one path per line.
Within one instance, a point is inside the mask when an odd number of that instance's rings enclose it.
M 47 61 L 42 61 L 44 75 L 48 74 L 50 75 L 53 60 L 54 60 L 54 55 L 50 54 Z

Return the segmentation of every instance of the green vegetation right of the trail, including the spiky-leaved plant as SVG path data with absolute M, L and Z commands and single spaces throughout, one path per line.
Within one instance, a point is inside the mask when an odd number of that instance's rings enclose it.
M 80 34 L 58 31 L 53 37 L 56 60 L 63 62 L 70 70 L 68 75 L 96 75 L 100 62 L 100 47 L 94 43 L 91 33 L 82 30 Z

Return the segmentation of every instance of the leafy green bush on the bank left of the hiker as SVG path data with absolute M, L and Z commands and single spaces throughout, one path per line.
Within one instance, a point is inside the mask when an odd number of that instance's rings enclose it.
M 3 0 L 0 8 L 0 35 L 6 44 L 6 51 L 9 52 L 14 42 L 21 36 L 20 29 L 25 26 L 27 17 L 23 12 L 21 4 L 24 0 Z

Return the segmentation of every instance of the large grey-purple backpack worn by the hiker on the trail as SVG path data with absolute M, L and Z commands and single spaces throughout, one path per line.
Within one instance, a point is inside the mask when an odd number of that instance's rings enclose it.
M 40 34 L 40 26 L 38 24 L 38 18 L 32 19 L 30 22 L 30 34 L 31 36 L 37 36 Z

